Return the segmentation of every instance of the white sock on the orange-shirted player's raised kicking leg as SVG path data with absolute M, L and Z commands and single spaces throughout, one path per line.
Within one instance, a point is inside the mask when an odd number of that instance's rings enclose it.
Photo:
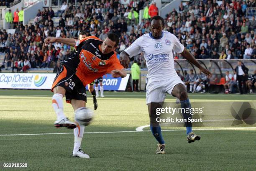
M 52 96 L 52 107 L 55 110 L 55 113 L 57 115 L 57 120 L 62 120 L 66 118 L 63 112 L 63 95 L 56 93 Z

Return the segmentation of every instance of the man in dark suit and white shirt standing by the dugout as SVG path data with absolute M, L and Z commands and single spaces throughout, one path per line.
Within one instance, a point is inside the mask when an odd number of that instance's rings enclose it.
M 241 61 L 238 61 L 238 66 L 236 66 L 235 71 L 237 73 L 237 80 L 238 80 L 240 94 L 243 94 L 243 91 L 246 94 L 247 93 L 246 80 L 248 78 L 249 69 L 246 68 L 246 66 L 244 66 Z M 243 82 L 243 89 L 242 89 L 242 82 Z

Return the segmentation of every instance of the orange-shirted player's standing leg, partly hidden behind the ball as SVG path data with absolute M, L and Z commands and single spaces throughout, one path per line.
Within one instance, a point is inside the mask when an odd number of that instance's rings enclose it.
M 83 100 L 71 100 L 72 107 L 74 109 L 74 113 L 80 110 L 84 110 L 86 102 Z M 84 153 L 81 149 L 82 138 L 84 135 L 84 125 L 77 123 L 77 128 L 74 129 L 74 149 L 73 156 L 80 158 L 90 158 L 89 155 Z

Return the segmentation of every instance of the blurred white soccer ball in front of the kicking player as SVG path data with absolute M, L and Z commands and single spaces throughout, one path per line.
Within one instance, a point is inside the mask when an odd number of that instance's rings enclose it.
M 92 122 L 93 116 L 93 111 L 87 107 L 81 107 L 75 111 L 75 120 L 84 126 L 87 126 Z

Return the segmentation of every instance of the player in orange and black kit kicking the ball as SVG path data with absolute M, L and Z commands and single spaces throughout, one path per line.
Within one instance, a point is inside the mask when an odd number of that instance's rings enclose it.
M 107 73 L 111 73 L 115 78 L 126 77 L 126 71 L 115 53 L 119 38 L 111 33 L 104 41 L 95 36 L 88 36 L 82 40 L 55 37 L 48 37 L 44 40 L 45 43 L 56 41 L 74 46 L 77 51 L 61 64 L 51 88 L 54 92 L 52 106 L 57 115 L 54 126 L 74 129 L 73 156 L 89 158 L 80 148 L 84 126 L 71 122 L 64 115 L 62 99 L 66 96 L 66 102 L 71 103 L 75 113 L 85 111 L 87 96 L 85 86 L 87 84 Z

